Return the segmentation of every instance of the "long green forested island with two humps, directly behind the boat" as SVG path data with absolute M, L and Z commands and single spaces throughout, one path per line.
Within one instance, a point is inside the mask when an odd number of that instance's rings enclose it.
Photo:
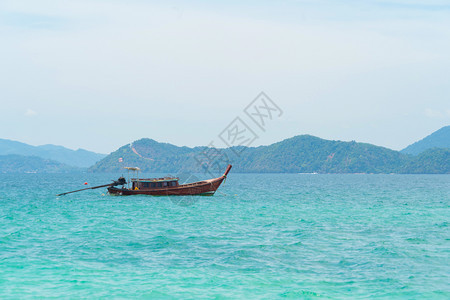
M 218 172 L 229 162 L 234 172 L 450 173 L 448 149 L 430 150 L 415 157 L 371 144 L 329 141 L 310 135 L 269 146 L 228 148 L 220 152 L 222 155 L 206 147 L 177 147 L 141 139 L 121 147 L 89 170 L 120 172 L 124 166 L 137 166 L 144 172 L 202 172 L 209 162 L 219 166 L 213 167 Z M 209 158 L 205 161 L 206 156 Z

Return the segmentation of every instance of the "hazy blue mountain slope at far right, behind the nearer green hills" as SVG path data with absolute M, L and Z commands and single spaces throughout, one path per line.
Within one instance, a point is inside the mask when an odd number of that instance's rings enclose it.
M 442 127 L 422 140 L 409 145 L 401 152 L 418 155 L 432 148 L 450 148 L 450 126 Z

